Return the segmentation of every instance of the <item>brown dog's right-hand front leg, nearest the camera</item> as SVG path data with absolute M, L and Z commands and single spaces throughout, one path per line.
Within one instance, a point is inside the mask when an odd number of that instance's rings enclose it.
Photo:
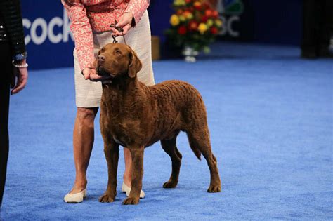
M 129 147 L 132 156 L 132 174 L 131 174 L 131 192 L 123 204 L 138 204 L 140 199 L 140 192 L 142 189 L 143 178 L 143 150 L 145 147 Z

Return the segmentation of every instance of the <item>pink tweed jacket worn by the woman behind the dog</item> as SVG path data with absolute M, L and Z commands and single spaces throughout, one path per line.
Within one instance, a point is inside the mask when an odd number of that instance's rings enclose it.
M 149 6 L 149 0 L 61 0 L 72 24 L 75 49 L 81 69 L 91 67 L 93 33 L 110 31 L 110 25 L 130 12 L 136 24 Z M 68 3 L 70 2 L 70 3 Z

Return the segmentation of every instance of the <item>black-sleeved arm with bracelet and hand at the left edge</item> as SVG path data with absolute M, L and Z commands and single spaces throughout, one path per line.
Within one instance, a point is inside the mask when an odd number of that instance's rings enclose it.
M 11 94 L 20 92 L 27 84 L 27 51 L 25 50 L 25 39 L 22 25 L 22 14 L 19 0 L 1 0 L 0 14 L 4 19 L 6 32 L 11 41 L 13 51 L 13 80 L 11 83 Z M 17 81 L 16 81 L 17 78 Z

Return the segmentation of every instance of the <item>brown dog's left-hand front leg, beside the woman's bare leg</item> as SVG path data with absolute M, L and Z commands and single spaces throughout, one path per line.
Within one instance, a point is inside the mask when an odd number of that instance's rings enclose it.
M 115 201 L 117 195 L 117 169 L 119 159 L 119 145 L 115 140 L 104 142 L 104 154 L 107 161 L 107 188 L 105 193 L 100 196 L 99 201 L 102 203 L 111 203 Z

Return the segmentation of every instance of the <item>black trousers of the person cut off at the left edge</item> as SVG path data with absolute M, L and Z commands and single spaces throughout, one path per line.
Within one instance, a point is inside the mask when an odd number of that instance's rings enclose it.
M 0 207 L 6 183 L 6 170 L 9 152 L 8 110 L 11 65 L 11 47 L 8 42 L 0 42 Z

